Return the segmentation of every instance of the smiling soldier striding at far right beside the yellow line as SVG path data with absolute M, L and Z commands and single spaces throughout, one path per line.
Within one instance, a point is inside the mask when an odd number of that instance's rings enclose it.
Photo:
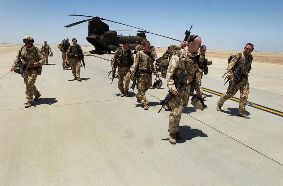
M 240 90 L 240 103 L 239 103 L 238 116 L 246 119 L 250 119 L 250 117 L 245 114 L 245 107 L 248 99 L 248 94 L 250 92 L 248 73 L 251 70 L 251 62 L 253 60 L 253 56 L 251 55 L 251 52 L 253 50 L 254 50 L 254 45 L 251 43 L 247 43 L 246 46 L 244 47 L 244 51 L 242 53 L 236 54 L 228 64 L 226 73 L 228 74 L 231 81 L 228 86 L 227 92 L 219 98 L 216 104 L 216 110 L 221 111 L 221 107 L 223 106 L 224 102 L 229 98 L 233 97 L 236 94 L 236 92 Z M 234 72 L 235 73 L 237 72 L 238 67 L 241 67 L 241 72 L 240 72 L 241 81 L 235 84 L 235 89 L 230 94 L 228 90 L 230 89 L 231 84 L 234 81 Z

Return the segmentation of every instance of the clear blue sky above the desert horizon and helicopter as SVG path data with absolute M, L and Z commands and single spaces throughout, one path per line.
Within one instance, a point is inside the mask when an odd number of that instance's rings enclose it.
M 21 43 L 31 35 L 35 44 L 59 44 L 65 37 L 90 45 L 88 22 L 65 28 L 87 17 L 98 16 L 183 40 L 185 30 L 202 38 L 208 49 L 283 52 L 283 1 L 8 1 L 0 0 L 0 43 Z M 105 21 L 110 30 L 134 28 Z M 135 32 L 118 32 L 118 35 Z M 146 34 L 155 47 L 179 42 Z

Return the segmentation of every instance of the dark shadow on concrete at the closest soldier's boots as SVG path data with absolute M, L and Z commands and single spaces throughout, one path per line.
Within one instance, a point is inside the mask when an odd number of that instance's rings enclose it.
M 208 135 L 203 133 L 202 130 L 193 129 L 187 125 L 180 126 L 178 131 L 183 135 L 184 138 L 176 139 L 177 143 L 184 143 L 187 140 L 191 140 L 192 138 L 196 138 L 196 137 L 208 137 Z M 169 135 L 169 132 L 168 132 L 168 135 Z M 167 141 L 169 140 L 169 138 L 162 139 L 162 140 Z

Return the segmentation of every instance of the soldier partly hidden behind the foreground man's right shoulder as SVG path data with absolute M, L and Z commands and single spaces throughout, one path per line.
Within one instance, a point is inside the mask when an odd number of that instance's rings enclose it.
M 205 60 L 205 51 L 206 51 L 206 46 L 201 45 L 200 50 L 198 50 L 198 54 L 200 55 L 200 68 L 198 69 L 198 80 L 200 84 L 200 94 L 201 98 L 204 99 L 206 98 L 206 95 L 203 93 L 203 88 L 201 87 L 201 79 L 203 77 L 203 73 L 206 75 L 208 73 L 208 65 L 211 65 L 212 63 L 210 59 Z

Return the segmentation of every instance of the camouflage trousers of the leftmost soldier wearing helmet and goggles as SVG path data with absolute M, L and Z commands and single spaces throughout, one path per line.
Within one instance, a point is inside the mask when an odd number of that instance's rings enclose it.
M 35 87 L 35 80 L 37 78 L 35 70 L 25 70 L 24 83 L 26 84 L 26 98 L 28 102 L 32 102 L 33 96 L 39 96 L 40 93 Z

